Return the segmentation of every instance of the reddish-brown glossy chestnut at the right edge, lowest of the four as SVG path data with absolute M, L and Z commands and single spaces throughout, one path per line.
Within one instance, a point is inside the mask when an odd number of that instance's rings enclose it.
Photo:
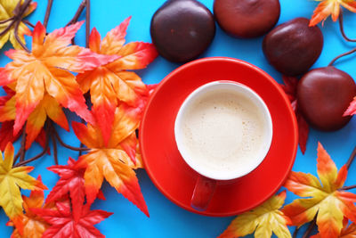
M 350 75 L 333 66 L 309 71 L 297 86 L 297 103 L 304 118 L 320 130 L 337 130 L 349 122 L 344 111 L 356 95 Z

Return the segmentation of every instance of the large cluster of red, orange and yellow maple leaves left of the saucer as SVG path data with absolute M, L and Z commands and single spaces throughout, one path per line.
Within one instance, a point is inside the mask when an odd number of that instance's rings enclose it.
M 32 37 L 30 52 L 14 44 L 12 31 L 0 37 L 2 45 L 10 38 L 15 46 L 5 52 L 12 62 L 0 69 L 6 93 L 0 97 L 0 206 L 14 226 L 13 237 L 101 237 L 93 225 L 111 213 L 90 207 L 105 199 L 104 179 L 149 216 L 134 169 L 142 168 L 136 130 L 155 86 L 145 85 L 133 70 L 145 68 L 158 53 L 149 43 L 125 44 L 129 21 L 102 39 L 94 28 L 89 48 L 71 45 L 83 21 L 50 33 L 41 22 L 33 32 L 21 25 L 21 39 Z M 44 199 L 47 188 L 40 177 L 28 176 L 33 167 L 16 163 L 12 142 L 22 135 L 26 150 L 34 141 L 48 150 L 49 137 L 58 135 L 54 124 L 70 130 L 64 108 L 83 119 L 72 127 L 86 152 L 48 168 L 60 179 Z M 20 188 L 32 193 L 21 196 Z

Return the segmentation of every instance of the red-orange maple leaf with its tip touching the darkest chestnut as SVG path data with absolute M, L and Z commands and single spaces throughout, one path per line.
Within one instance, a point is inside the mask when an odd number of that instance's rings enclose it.
M 145 68 L 158 55 L 149 43 L 133 42 L 125 44 L 126 29 L 131 18 L 127 18 L 101 41 L 94 28 L 90 35 L 89 48 L 95 53 L 118 55 L 115 62 L 77 75 L 77 82 L 86 93 L 90 90 L 93 111 L 101 128 L 104 142 L 108 143 L 115 109 L 119 102 L 138 107 L 144 103 L 143 97 L 149 89 L 141 78 L 132 71 Z

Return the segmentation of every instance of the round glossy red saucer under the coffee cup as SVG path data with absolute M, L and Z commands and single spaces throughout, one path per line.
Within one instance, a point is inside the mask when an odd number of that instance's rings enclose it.
M 263 163 L 247 176 L 218 185 L 206 211 L 190 207 L 198 178 L 182 160 L 174 141 L 174 119 L 184 99 L 198 86 L 233 80 L 251 87 L 267 104 L 273 140 Z M 158 189 L 183 209 L 215 217 L 253 209 L 276 193 L 292 169 L 297 149 L 295 114 L 286 94 L 267 73 L 231 58 L 205 58 L 170 73 L 151 96 L 142 119 L 140 144 L 146 170 Z

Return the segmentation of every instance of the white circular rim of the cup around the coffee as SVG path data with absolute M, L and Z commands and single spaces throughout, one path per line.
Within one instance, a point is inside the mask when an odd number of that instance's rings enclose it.
M 259 103 L 258 107 L 260 109 L 262 109 L 262 111 L 263 111 L 263 115 L 266 120 L 266 125 L 267 125 L 267 130 L 268 130 L 268 133 L 266 135 L 266 140 L 264 141 L 263 149 L 261 149 L 259 154 L 257 154 L 257 156 L 256 156 L 256 157 L 258 157 L 258 160 L 255 160 L 255 163 L 248 170 L 241 171 L 240 173 L 237 173 L 236 171 L 234 171 L 234 173 L 233 173 L 234 176 L 231 176 L 231 173 L 221 173 L 220 175 L 209 173 L 209 172 L 206 173 L 206 170 L 198 167 L 197 163 L 193 162 L 190 159 L 188 152 L 183 148 L 184 146 L 182 145 L 182 135 L 179 133 L 179 127 L 178 127 L 182 121 L 183 111 L 188 106 L 188 104 L 191 103 L 190 102 L 191 99 L 193 99 L 197 94 L 200 94 L 202 91 L 205 91 L 207 88 L 222 85 L 222 84 L 223 85 L 239 86 L 239 88 L 244 90 L 245 93 L 247 93 L 250 96 L 253 96 L 256 99 L 256 101 Z M 178 111 L 175 121 L 174 121 L 175 144 L 177 145 L 178 151 L 182 155 L 182 159 L 190 166 L 190 168 L 192 168 L 196 172 L 198 172 L 199 175 L 206 176 L 206 177 L 209 177 L 214 180 L 232 180 L 232 179 L 236 179 L 236 178 L 239 178 L 242 176 L 246 176 L 247 174 L 254 171 L 255 168 L 258 168 L 258 166 L 263 162 L 264 158 L 267 156 L 268 152 L 270 151 L 272 137 L 273 137 L 273 124 L 272 124 L 272 119 L 271 119 L 271 112 L 269 111 L 266 103 L 264 103 L 263 98 L 260 95 L 258 95 L 257 93 L 255 93 L 255 91 L 253 89 L 251 89 L 249 86 L 246 86 L 239 82 L 230 81 L 230 80 L 218 80 L 218 81 L 206 83 L 205 85 L 202 85 L 202 86 L 198 86 L 198 88 L 196 88 L 193 92 L 191 92 L 185 98 L 181 107 L 179 108 L 179 111 Z

